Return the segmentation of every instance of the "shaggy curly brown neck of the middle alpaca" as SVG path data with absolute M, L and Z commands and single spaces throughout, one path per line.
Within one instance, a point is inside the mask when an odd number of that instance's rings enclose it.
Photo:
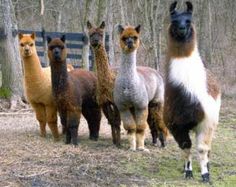
M 97 48 L 93 48 L 93 51 L 97 66 L 98 86 L 104 85 L 105 87 L 108 87 L 110 86 L 110 81 L 112 80 L 112 73 L 110 71 L 105 47 L 100 45 Z

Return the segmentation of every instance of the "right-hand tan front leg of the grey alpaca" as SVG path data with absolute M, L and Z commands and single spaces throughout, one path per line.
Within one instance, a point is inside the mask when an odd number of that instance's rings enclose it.
M 135 110 L 135 121 L 136 121 L 136 140 L 137 149 L 142 151 L 149 151 L 144 147 L 145 140 L 145 129 L 147 127 L 148 109 Z

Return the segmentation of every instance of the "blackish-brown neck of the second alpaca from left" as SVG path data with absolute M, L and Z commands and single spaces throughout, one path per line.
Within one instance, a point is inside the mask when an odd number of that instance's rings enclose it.
M 50 62 L 52 89 L 55 96 L 65 92 L 68 87 L 68 72 L 66 62 Z

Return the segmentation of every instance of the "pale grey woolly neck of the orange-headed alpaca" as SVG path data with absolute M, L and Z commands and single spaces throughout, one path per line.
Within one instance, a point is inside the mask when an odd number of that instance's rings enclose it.
M 131 53 L 122 53 L 122 62 L 120 65 L 120 74 L 126 75 L 127 78 L 137 76 L 136 65 L 137 50 Z

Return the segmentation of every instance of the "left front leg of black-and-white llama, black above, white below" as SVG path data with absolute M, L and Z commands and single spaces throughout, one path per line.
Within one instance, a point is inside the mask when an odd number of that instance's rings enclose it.
M 191 158 L 191 147 L 192 142 L 189 136 L 189 131 L 181 128 L 181 125 L 174 125 L 176 128 L 171 129 L 171 132 L 178 143 L 179 147 L 183 151 L 184 157 L 184 175 L 186 179 L 193 178 L 192 172 L 192 158 Z

